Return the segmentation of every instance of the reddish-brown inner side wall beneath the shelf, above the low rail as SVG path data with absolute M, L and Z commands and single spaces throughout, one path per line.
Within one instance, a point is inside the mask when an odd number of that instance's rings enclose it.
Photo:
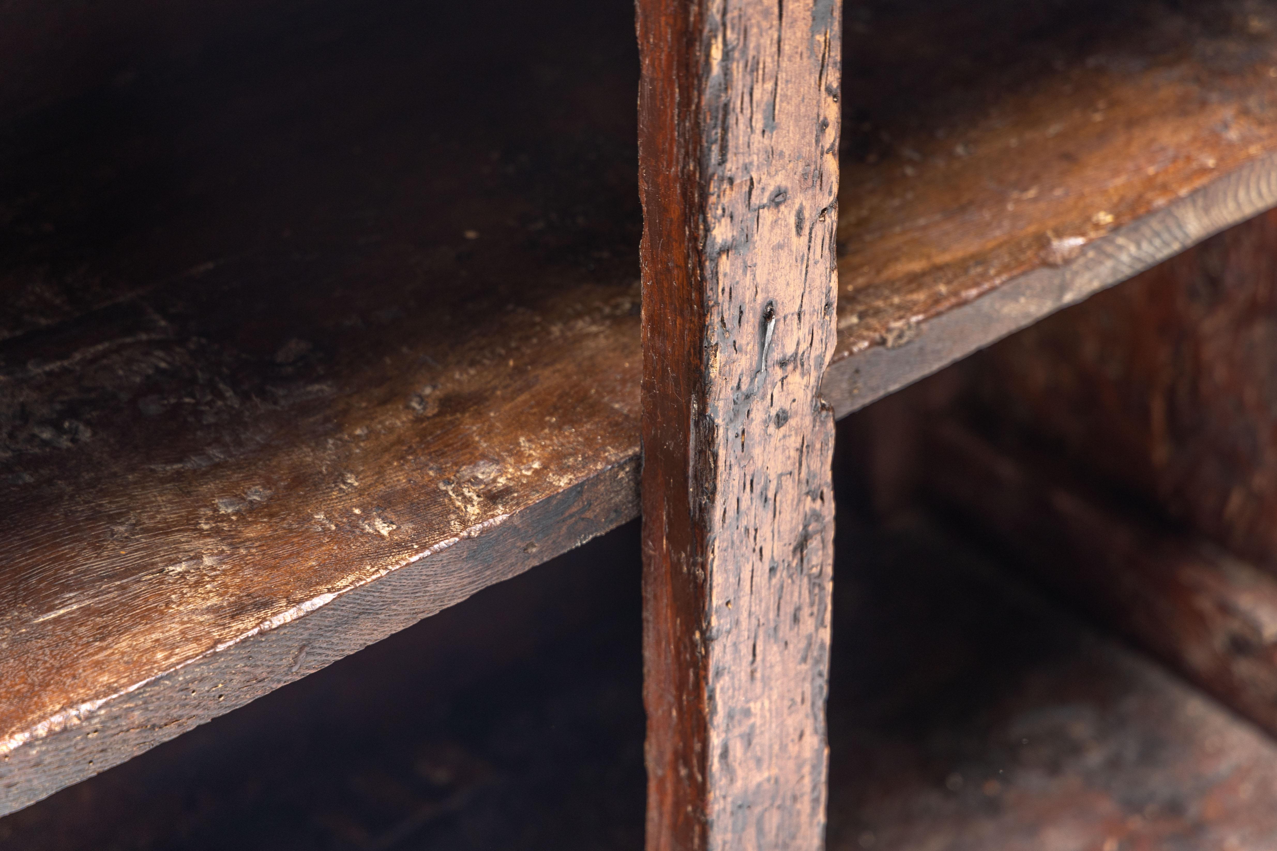
M 982 393 L 1230 551 L 1277 569 L 1277 214 L 992 348 Z

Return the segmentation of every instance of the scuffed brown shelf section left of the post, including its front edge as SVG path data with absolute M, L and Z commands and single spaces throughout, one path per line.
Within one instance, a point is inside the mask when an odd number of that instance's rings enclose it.
M 257 14 L 0 139 L 3 810 L 637 513 L 632 9 Z

